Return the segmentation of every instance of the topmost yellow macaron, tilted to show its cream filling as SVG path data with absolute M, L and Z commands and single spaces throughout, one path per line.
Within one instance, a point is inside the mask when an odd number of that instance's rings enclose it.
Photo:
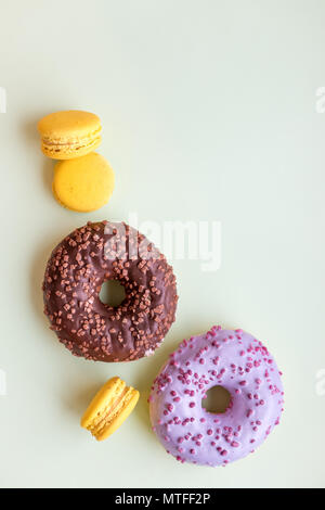
M 93 113 L 69 110 L 47 115 L 38 123 L 41 150 L 53 160 L 72 160 L 101 143 L 101 119 Z

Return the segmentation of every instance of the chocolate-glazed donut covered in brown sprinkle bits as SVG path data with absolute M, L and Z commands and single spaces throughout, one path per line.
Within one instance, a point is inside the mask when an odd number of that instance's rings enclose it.
M 118 280 L 126 298 L 112 307 L 99 293 Z M 88 222 L 52 252 L 44 282 L 44 314 L 75 356 L 131 361 L 150 356 L 176 318 L 176 277 L 165 256 L 126 224 Z

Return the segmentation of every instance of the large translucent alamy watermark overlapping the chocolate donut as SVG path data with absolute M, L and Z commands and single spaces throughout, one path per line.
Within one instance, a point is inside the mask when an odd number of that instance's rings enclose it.
M 105 255 L 143 260 L 159 258 L 159 251 L 172 260 L 198 260 L 202 271 L 217 271 L 221 265 L 221 222 L 173 220 L 140 222 L 136 213 L 129 214 L 127 224 L 131 229 L 126 235 L 126 226 L 119 221 L 107 222 Z M 139 241 L 138 231 L 147 239 Z M 150 240 L 150 241 L 148 241 Z M 159 251 L 158 251 L 159 250 Z

